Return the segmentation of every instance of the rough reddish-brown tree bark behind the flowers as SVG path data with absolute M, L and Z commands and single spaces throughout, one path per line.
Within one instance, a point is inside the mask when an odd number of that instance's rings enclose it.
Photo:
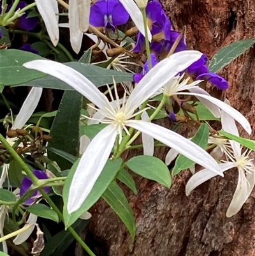
M 255 36 L 254 0 L 162 0 L 161 3 L 174 29 L 187 26 L 189 49 L 200 50 L 209 57 L 224 45 Z M 218 98 L 226 96 L 253 127 L 254 55 L 255 50 L 251 48 L 222 70 L 230 82 L 226 93 L 208 88 Z M 166 127 L 170 125 L 167 119 L 163 123 Z M 186 135 L 189 132 L 186 130 Z M 255 139 L 254 132 L 252 138 Z M 163 159 L 167 150 L 157 149 L 155 155 Z M 129 154 L 127 158 L 131 157 Z M 132 156 L 134 154 L 140 151 L 133 152 Z M 237 186 L 237 171 L 230 170 L 224 178 L 211 179 L 186 197 L 185 183 L 190 176 L 189 171 L 175 176 L 170 190 L 140 177 L 136 177 L 138 195 L 125 189 L 136 218 L 133 244 L 119 217 L 99 200 L 91 210 L 92 222 L 87 234 L 91 249 L 98 256 L 255 255 L 255 193 L 252 192 L 237 215 L 226 218 Z

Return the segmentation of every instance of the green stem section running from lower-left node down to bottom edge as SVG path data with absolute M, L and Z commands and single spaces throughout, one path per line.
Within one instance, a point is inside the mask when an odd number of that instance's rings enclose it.
M 59 208 L 57 206 L 55 206 L 54 202 L 50 199 L 50 197 L 48 196 L 47 192 L 45 192 L 45 190 L 43 188 L 39 188 L 39 191 L 41 192 L 41 195 L 43 195 L 44 199 L 47 200 L 47 202 L 50 205 L 50 207 L 52 207 L 52 209 L 54 209 L 54 211 L 57 213 L 57 215 L 59 215 L 60 220 L 64 223 L 64 218 L 63 218 L 63 215 L 62 215 L 61 211 L 59 211 Z M 78 243 L 80 243 L 80 245 L 84 248 L 84 250 L 87 253 L 89 253 L 89 255 L 96 256 L 91 251 L 91 249 L 84 243 L 84 241 L 80 238 L 80 236 L 73 229 L 73 227 L 68 227 L 68 230 L 73 235 L 73 237 L 75 237 L 75 239 L 77 239 Z

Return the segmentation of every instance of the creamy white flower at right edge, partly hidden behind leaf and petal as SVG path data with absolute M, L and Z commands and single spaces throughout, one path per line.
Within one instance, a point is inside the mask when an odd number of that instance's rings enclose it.
M 224 111 L 221 114 L 221 123 L 224 131 L 239 136 L 234 119 Z M 223 172 L 231 168 L 237 168 L 238 170 L 237 189 L 226 213 L 228 218 L 236 215 L 240 211 L 255 184 L 255 167 L 252 163 L 253 159 L 249 158 L 251 151 L 248 152 L 247 149 L 242 153 L 242 146 L 238 142 L 230 140 L 230 144 L 231 149 L 229 147 L 222 147 L 228 161 L 219 164 Z M 216 175 L 208 169 L 203 169 L 194 174 L 186 185 L 186 195 L 189 195 L 194 188 L 214 176 Z

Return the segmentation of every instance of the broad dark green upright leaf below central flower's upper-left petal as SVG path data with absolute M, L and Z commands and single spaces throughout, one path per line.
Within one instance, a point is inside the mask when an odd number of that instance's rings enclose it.
M 65 151 L 73 156 L 78 156 L 80 147 L 79 120 L 82 108 L 82 94 L 77 91 L 65 91 L 59 105 L 57 116 L 50 129 L 52 140 L 48 147 L 54 147 Z M 71 163 L 59 156 L 49 152 L 50 160 L 57 162 L 61 170 L 71 168 Z

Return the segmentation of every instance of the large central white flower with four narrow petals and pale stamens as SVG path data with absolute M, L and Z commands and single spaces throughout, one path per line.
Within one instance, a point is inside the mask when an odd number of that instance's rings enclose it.
M 194 162 L 212 170 L 216 174 L 222 175 L 212 156 L 193 142 L 157 124 L 147 123 L 142 120 L 131 120 L 131 118 L 140 113 L 138 111 L 134 114 L 135 110 L 143 102 L 149 99 L 166 82 L 173 79 L 177 73 L 185 70 L 191 63 L 199 59 L 200 56 L 200 52 L 183 51 L 164 59 L 143 77 L 129 95 L 128 100 L 123 99 L 122 106 L 120 106 L 115 87 L 117 98 L 117 107 L 115 109 L 113 109 L 106 96 L 91 81 L 64 64 L 46 60 L 31 61 L 24 64 L 26 68 L 53 75 L 68 83 L 69 86 L 83 94 L 99 108 L 99 112 L 103 116 L 101 123 L 109 124 L 94 137 L 80 159 L 69 188 L 67 206 L 69 213 L 77 211 L 91 192 L 94 183 L 108 160 L 117 135 L 121 140 L 122 130 L 128 133 L 127 126 L 154 137 L 154 139 L 173 147 Z

